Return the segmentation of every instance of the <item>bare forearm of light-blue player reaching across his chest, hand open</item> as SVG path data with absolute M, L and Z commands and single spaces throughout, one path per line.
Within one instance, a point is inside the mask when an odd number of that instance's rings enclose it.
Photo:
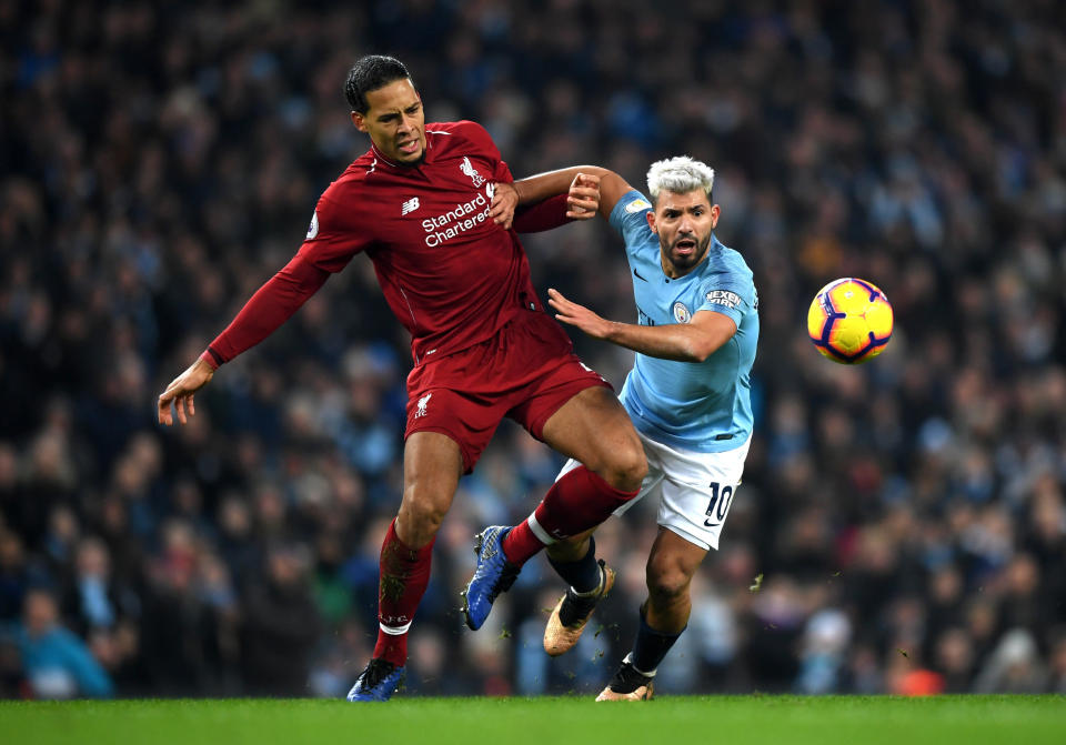
M 700 311 L 688 323 L 642 326 L 609 321 L 584 305 L 567 300 L 555 289 L 547 291 L 547 298 L 555 318 L 563 323 L 577 326 L 594 339 L 664 360 L 703 362 L 736 333 L 733 319 L 714 311 Z

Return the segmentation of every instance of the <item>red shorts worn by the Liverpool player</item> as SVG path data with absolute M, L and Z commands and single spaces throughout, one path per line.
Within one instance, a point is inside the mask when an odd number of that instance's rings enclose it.
M 408 431 L 459 443 L 466 473 L 504 416 L 542 440 L 544 423 L 586 387 L 612 385 L 582 364 L 547 313 L 529 311 L 480 344 L 424 362 L 408 375 Z

